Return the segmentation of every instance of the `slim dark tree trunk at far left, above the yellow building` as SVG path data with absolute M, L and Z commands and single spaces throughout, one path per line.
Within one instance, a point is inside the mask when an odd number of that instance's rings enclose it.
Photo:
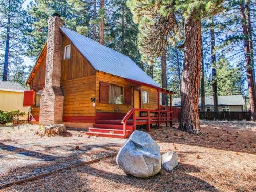
M 11 1 L 9 0 L 9 10 Z M 4 72 L 3 81 L 7 81 L 8 77 L 8 63 L 9 63 L 9 47 L 10 47 L 10 16 L 7 19 L 7 29 L 6 29 L 6 42 L 5 42 L 5 60 L 4 60 Z

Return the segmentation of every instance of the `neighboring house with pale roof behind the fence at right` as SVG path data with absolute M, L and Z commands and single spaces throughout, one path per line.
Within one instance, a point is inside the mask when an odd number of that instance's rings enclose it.
M 181 98 L 173 98 L 173 106 L 180 107 Z M 218 96 L 218 110 L 229 111 L 243 111 L 245 105 L 242 95 L 226 95 Z M 201 111 L 201 97 L 198 99 L 198 109 Z M 212 96 L 205 97 L 205 111 L 214 111 L 214 100 Z

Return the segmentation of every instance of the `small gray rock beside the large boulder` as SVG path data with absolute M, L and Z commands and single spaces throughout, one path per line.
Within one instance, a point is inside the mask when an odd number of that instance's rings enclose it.
M 178 166 L 178 155 L 175 151 L 167 152 L 162 155 L 161 160 L 162 166 L 168 172 L 172 172 L 172 170 Z

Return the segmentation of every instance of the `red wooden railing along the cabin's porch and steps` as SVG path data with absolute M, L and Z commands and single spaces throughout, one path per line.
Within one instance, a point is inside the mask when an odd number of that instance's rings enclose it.
M 165 122 L 167 127 L 169 122 L 170 126 L 172 126 L 172 111 L 170 111 L 169 109 L 169 107 L 167 107 L 166 110 L 132 108 L 122 120 L 124 135 L 126 136 L 127 120 L 131 118 L 131 115 L 133 115 L 134 130 L 136 129 L 136 125 L 142 124 L 147 124 L 148 131 L 150 131 L 150 125 L 153 123 L 156 123 L 158 127 L 160 127 L 160 123 Z M 136 116 L 136 112 L 139 113 L 138 117 Z

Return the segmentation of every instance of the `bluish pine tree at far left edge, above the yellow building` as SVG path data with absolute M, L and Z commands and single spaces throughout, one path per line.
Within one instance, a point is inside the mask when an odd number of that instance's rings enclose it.
M 4 81 L 9 79 L 10 68 L 16 63 L 23 63 L 23 32 L 26 28 L 23 2 L 22 0 L 0 0 L 0 50 L 4 51 L 4 59 L 1 59 L 1 65 L 4 66 Z

